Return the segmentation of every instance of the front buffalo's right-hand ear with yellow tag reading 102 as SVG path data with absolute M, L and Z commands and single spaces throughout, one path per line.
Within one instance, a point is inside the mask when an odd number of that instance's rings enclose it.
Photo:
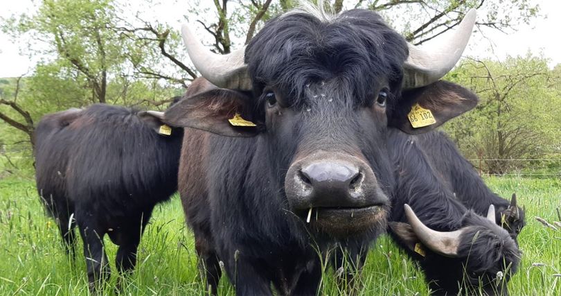
M 449 119 L 472 110 L 478 101 L 477 95 L 469 89 L 452 82 L 439 80 L 425 87 L 404 90 L 395 110 L 392 110 L 389 125 L 408 134 L 428 132 L 438 128 Z M 416 113 L 412 116 L 411 110 L 417 104 L 430 112 L 423 112 L 422 115 Z M 411 121 L 420 121 L 423 119 L 422 117 L 427 119 L 423 122 L 431 124 L 413 127 Z

